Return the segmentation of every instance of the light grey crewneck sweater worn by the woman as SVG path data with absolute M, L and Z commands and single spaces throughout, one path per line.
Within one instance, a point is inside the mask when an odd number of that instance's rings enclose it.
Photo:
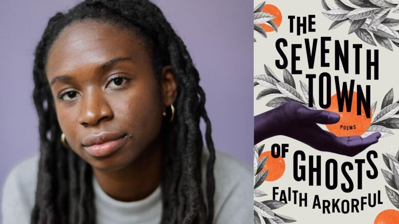
M 207 152 L 204 149 L 204 152 Z M 3 189 L 3 224 L 28 224 L 35 203 L 39 155 L 18 163 L 10 171 Z M 202 161 L 205 178 L 207 155 Z M 253 223 L 253 170 L 250 164 L 216 152 L 214 223 Z M 140 201 L 121 202 L 107 195 L 93 176 L 96 219 L 98 224 L 160 223 L 162 189 L 160 186 Z M 202 184 L 204 193 L 205 183 Z

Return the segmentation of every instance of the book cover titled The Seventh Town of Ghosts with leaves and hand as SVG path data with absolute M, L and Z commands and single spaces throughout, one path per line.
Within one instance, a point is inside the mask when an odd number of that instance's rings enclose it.
M 399 223 L 399 1 L 254 1 L 254 222 Z

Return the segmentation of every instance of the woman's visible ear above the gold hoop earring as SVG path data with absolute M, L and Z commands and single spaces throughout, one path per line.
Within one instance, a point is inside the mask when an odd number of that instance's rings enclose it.
M 165 106 L 170 106 L 176 100 L 178 94 L 176 81 L 172 66 L 167 65 L 162 69 L 161 72 L 161 87 L 162 87 L 162 98 Z

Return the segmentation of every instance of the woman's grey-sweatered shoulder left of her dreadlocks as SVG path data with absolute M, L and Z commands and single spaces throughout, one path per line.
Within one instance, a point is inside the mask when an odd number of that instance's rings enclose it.
M 3 223 L 30 223 L 35 203 L 39 155 L 18 162 L 8 173 L 2 200 Z

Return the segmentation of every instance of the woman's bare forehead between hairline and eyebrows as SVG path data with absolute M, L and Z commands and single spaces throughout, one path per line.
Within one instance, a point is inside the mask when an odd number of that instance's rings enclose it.
M 79 66 L 100 64 L 115 57 L 148 56 L 141 37 L 114 24 L 83 20 L 64 28 L 50 48 L 46 73 L 65 72 Z

